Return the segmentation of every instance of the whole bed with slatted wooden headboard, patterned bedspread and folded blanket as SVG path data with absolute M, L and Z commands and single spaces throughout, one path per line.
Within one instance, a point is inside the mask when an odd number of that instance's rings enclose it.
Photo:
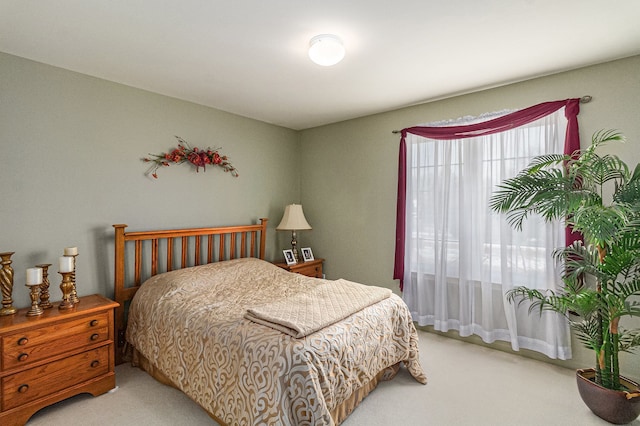
M 266 262 L 266 223 L 114 225 L 118 361 L 222 425 L 337 425 L 400 369 L 425 384 L 402 299 Z

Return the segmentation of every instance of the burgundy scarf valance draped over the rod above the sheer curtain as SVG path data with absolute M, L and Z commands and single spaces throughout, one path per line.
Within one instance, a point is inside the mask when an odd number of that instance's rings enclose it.
M 565 99 L 563 101 L 544 102 L 511 114 L 503 115 L 481 123 L 465 126 L 447 127 L 407 127 L 400 131 L 400 153 L 398 159 L 398 204 L 396 209 L 396 251 L 393 278 L 400 280 L 400 289 L 403 287 L 404 277 L 404 247 L 405 247 L 405 213 L 406 213 L 406 189 L 407 189 L 407 147 L 406 136 L 408 133 L 423 136 L 430 139 L 454 140 L 476 136 L 490 135 L 504 132 L 529 124 L 535 120 L 553 114 L 565 107 L 567 118 L 567 130 L 565 134 L 565 154 L 573 154 L 580 149 L 580 135 L 578 131 L 578 113 L 580 112 L 580 99 Z M 571 244 L 579 238 L 567 230 L 567 244 Z

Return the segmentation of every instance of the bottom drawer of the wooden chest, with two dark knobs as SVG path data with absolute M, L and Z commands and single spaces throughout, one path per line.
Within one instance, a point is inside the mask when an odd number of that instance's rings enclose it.
M 111 345 L 30 368 L 2 379 L 2 411 L 109 372 Z

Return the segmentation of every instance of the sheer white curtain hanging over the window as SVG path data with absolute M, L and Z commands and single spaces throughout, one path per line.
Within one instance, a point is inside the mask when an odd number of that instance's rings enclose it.
M 464 121 L 455 124 L 472 122 Z M 407 135 L 403 298 L 419 325 L 571 358 L 562 316 L 529 314 L 526 305 L 518 308 L 505 298 L 519 285 L 554 290 L 562 285 L 552 252 L 564 245 L 563 225 L 531 217 L 517 231 L 489 209 L 500 182 L 536 155 L 563 152 L 565 128 L 562 108 L 488 136 L 433 140 Z

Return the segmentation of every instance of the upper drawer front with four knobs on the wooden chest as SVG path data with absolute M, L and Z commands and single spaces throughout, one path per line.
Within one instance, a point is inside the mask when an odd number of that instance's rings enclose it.
M 28 365 L 109 339 L 109 315 L 96 314 L 2 338 L 2 369 Z

